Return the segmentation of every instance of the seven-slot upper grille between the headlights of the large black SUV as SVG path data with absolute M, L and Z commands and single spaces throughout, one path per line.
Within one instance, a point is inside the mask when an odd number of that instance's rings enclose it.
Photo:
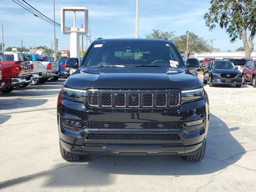
M 161 92 L 161 90 L 152 92 L 151 90 L 142 90 L 142 92 L 136 93 L 135 91 L 131 92 L 129 90 L 128 93 L 118 92 L 118 90 L 88 91 L 88 104 L 99 108 L 168 108 L 176 107 L 180 104 L 179 92 L 168 93 L 166 90 L 165 92 Z

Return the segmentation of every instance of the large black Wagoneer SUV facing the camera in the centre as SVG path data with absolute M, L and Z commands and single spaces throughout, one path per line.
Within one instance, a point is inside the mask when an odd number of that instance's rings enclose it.
M 169 40 L 98 39 L 58 96 L 60 152 L 204 157 L 209 103 L 203 84 Z

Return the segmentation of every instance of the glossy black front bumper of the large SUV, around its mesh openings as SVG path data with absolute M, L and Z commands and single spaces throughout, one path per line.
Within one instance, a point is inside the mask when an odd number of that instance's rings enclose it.
M 209 124 L 208 98 L 182 104 L 170 110 L 113 110 L 92 111 L 86 105 L 63 99 L 58 106 L 58 130 L 62 147 L 76 154 L 190 154 L 199 150 L 206 140 Z M 134 117 L 134 118 L 133 118 Z M 126 128 L 85 128 L 76 129 L 66 126 L 62 119 L 79 120 L 81 122 L 125 123 Z M 142 123 L 172 123 L 204 119 L 204 123 L 186 128 L 141 128 Z M 135 139 L 90 139 L 90 134 L 114 135 L 171 135 L 176 134 L 178 140 L 135 140 Z

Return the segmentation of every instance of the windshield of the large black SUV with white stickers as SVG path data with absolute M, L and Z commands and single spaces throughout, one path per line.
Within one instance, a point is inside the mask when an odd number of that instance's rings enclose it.
M 181 67 L 172 44 L 165 42 L 98 42 L 90 49 L 82 66 Z

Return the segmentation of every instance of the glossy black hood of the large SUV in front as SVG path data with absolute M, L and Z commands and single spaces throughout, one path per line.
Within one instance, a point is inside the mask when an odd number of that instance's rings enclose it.
M 194 89 L 200 81 L 186 68 L 79 68 L 64 83 L 77 89 Z M 202 83 L 200 83 L 200 86 Z

